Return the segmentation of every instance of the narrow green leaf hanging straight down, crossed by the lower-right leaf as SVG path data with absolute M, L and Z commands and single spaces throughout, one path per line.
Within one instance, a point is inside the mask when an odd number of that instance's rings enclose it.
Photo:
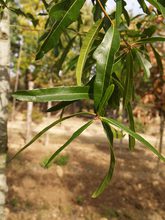
M 134 118 L 133 118 L 133 113 L 132 113 L 132 106 L 131 103 L 129 102 L 127 105 L 127 113 L 129 117 L 129 128 L 135 132 L 135 124 L 134 124 Z M 129 149 L 134 150 L 135 148 L 135 138 L 129 135 Z

